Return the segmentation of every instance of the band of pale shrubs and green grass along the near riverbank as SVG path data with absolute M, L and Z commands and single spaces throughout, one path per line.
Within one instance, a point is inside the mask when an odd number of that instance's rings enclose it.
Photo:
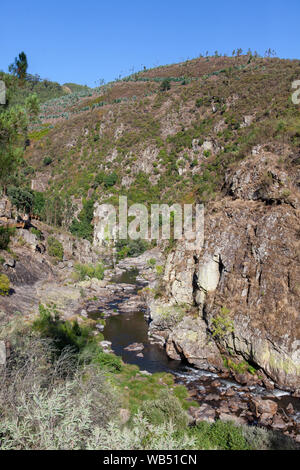
M 44 307 L 44 316 L 41 315 L 44 329 L 32 331 L 29 325 L 15 320 L 0 331 L 0 339 L 9 338 L 12 351 L 0 375 L 1 450 L 296 449 L 297 445 L 286 436 L 261 428 L 237 427 L 221 421 L 189 426 L 179 400 L 182 390 L 178 388 L 176 398 L 176 387 L 173 395 L 171 383 L 167 381 L 164 386 L 160 385 L 160 392 L 154 399 L 141 397 L 139 393 L 138 408 L 129 421 L 122 424 L 120 408 L 124 406 L 124 387 L 113 377 L 122 379 L 124 371 L 104 368 L 101 361 L 81 361 L 81 353 L 89 344 L 88 336 L 77 349 L 70 344 L 60 349 L 55 340 L 63 320 L 57 330 L 50 322 L 52 328 L 47 331 L 49 315 L 45 312 Z M 68 328 L 64 338 L 73 338 L 74 332 Z M 126 372 L 128 385 L 138 383 L 133 372 Z M 136 370 L 135 374 L 140 375 Z M 141 387 L 145 387 L 148 380 L 155 387 L 154 376 L 141 379 Z M 173 390 L 174 385 L 171 385 Z M 126 388 L 129 387 L 126 385 Z

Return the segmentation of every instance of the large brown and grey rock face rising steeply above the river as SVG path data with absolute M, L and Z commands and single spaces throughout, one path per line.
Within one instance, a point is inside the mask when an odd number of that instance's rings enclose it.
M 219 351 L 231 351 L 297 390 L 300 194 L 274 158 L 260 154 L 228 174 L 223 200 L 206 208 L 203 249 L 183 241 L 169 255 L 163 295 L 149 305 L 150 334 L 164 338 L 171 357 L 219 369 Z M 158 304 L 184 304 L 186 314 L 162 328 Z

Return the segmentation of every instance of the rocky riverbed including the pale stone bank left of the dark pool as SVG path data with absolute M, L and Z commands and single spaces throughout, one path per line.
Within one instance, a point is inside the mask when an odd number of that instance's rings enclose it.
M 297 392 L 293 396 L 277 389 L 263 371 L 253 375 L 191 367 L 181 361 L 181 357 L 172 359 L 172 350 L 169 347 L 166 351 L 163 336 L 155 337 L 147 296 L 141 291 L 157 288 L 155 266 L 164 263 L 158 249 L 107 268 L 102 281 L 74 282 L 70 280 L 72 260 L 53 266 L 43 254 L 25 248 L 16 246 L 15 258 L 7 255 L 5 260 L 6 272 L 13 280 L 13 292 L 0 299 L 1 310 L 9 315 L 19 310 L 25 316 L 31 316 L 39 303 L 53 302 L 66 318 L 79 321 L 86 317 L 105 318 L 106 326 L 96 322 L 95 328 L 95 334 L 104 330 L 104 350 L 110 352 L 112 348 L 126 362 L 139 365 L 145 373 L 165 371 L 174 374 L 176 382 L 188 388 L 191 401 L 196 400 L 200 405 L 199 408 L 191 407 L 191 421 L 233 420 L 239 424 L 276 429 L 300 440 Z M 132 346 L 133 343 L 138 344 Z

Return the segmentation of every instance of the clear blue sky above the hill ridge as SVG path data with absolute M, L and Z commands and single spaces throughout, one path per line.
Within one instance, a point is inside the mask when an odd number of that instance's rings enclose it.
M 299 0 L 13 0 L 0 6 L 0 70 L 95 86 L 101 78 L 241 47 L 300 59 Z

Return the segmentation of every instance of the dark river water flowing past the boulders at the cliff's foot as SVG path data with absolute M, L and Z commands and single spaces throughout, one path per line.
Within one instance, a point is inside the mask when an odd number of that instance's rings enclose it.
M 137 291 L 143 286 L 136 281 L 137 274 L 137 270 L 126 271 L 115 277 L 113 282 L 134 284 Z M 117 303 L 112 302 L 112 304 L 117 313 Z M 94 313 L 93 318 L 95 317 L 97 317 L 97 314 Z M 175 376 L 177 383 L 184 384 L 188 388 L 197 389 L 200 393 L 202 392 L 203 401 L 205 401 L 205 395 L 209 393 L 221 394 L 232 387 L 240 398 L 247 394 L 243 390 L 244 387 L 233 380 L 222 379 L 218 374 L 195 369 L 182 361 L 170 359 L 160 345 L 149 341 L 148 324 L 144 312 L 127 312 L 108 317 L 103 334 L 105 340 L 111 341 L 113 351 L 121 356 L 124 362 L 135 364 L 139 366 L 140 370 L 147 370 L 151 373 L 170 372 Z M 126 350 L 125 348 L 132 343 L 143 343 L 144 349 L 138 352 Z M 140 353 L 142 353 L 142 356 L 138 355 Z M 216 379 L 220 382 L 218 389 L 211 386 Z M 296 420 L 300 420 L 300 400 L 292 397 L 288 392 L 278 389 L 270 392 L 257 385 L 249 387 L 249 390 L 252 396 L 258 395 L 277 401 L 281 409 L 285 409 L 289 403 L 292 403 L 296 411 Z

